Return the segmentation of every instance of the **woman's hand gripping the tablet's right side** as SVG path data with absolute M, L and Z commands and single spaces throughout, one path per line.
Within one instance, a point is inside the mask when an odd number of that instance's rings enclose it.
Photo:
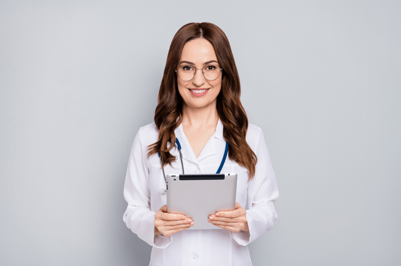
M 238 233 L 239 231 L 249 232 L 246 214 L 245 209 L 236 202 L 235 210 L 218 211 L 215 215 L 210 215 L 207 221 L 233 233 Z

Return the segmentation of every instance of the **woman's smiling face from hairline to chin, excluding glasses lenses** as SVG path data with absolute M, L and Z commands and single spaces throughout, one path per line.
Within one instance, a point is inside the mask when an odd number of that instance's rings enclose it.
M 179 62 L 177 69 L 184 65 L 201 68 L 196 70 L 194 78 L 190 81 L 183 81 L 177 76 L 178 92 L 184 100 L 183 108 L 215 108 L 217 95 L 221 90 L 222 73 L 215 80 L 207 80 L 202 74 L 205 65 L 214 64 L 221 68 L 213 45 L 205 39 L 189 41 L 182 49 Z

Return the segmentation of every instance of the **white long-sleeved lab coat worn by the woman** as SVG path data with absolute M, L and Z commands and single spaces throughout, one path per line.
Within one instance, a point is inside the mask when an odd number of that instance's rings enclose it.
M 225 151 L 223 124 L 219 120 L 201 154 L 196 158 L 182 125 L 174 131 L 181 143 L 186 174 L 215 174 Z M 257 156 L 255 177 L 248 182 L 248 171 L 236 162 L 227 160 L 221 173 L 236 173 L 236 201 L 247 210 L 249 232 L 231 233 L 225 229 L 193 229 L 174 233 L 170 237 L 154 236 L 154 214 L 166 204 L 166 184 L 158 154 L 147 158 L 146 148 L 158 139 L 154 123 L 141 127 L 134 139 L 124 184 L 124 198 L 128 203 L 124 221 L 128 228 L 152 246 L 150 266 L 251 266 L 247 244 L 273 227 L 277 220 L 274 202 L 278 189 L 271 167 L 269 151 L 262 130 L 249 125 L 247 142 Z M 173 148 L 172 155 L 178 156 Z M 165 174 L 180 174 L 179 159 L 173 167 L 165 166 Z M 207 196 L 207 195 L 205 195 Z M 196 221 L 194 221 L 196 223 Z

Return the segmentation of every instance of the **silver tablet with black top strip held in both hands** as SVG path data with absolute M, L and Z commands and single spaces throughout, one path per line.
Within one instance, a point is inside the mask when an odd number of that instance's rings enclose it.
M 167 212 L 190 217 L 189 229 L 221 229 L 209 215 L 235 209 L 237 174 L 168 174 L 166 180 Z

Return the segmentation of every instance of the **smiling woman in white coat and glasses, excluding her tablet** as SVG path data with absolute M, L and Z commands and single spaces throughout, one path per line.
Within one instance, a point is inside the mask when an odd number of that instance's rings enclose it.
M 278 190 L 269 153 L 261 129 L 248 125 L 240 94 L 224 32 L 211 23 L 179 29 L 168 51 L 155 123 L 138 131 L 124 185 L 124 221 L 153 247 L 150 265 L 252 265 L 247 244 L 275 223 Z M 208 219 L 224 230 L 187 230 L 196 221 L 166 213 L 162 169 L 166 175 L 182 172 L 176 139 L 186 174 L 214 174 L 227 141 L 221 173 L 238 175 L 236 209 Z

